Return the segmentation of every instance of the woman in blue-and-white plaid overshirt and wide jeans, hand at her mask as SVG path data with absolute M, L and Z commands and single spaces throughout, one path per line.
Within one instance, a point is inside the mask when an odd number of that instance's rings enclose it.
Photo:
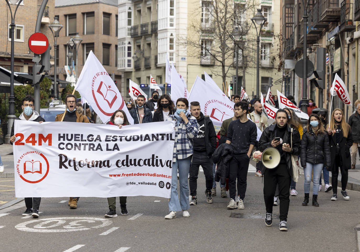
M 165 219 L 176 218 L 176 212 L 183 210 L 183 217 L 190 217 L 188 175 L 193 155 L 193 139 L 198 135 L 198 123 L 189 111 L 186 98 L 176 101 L 176 112 L 168 121 L 175 121 L 175 144 L 172 158 L 171 197 L 169 214 Z M 177 170 L 179 169 L 180 200 L 177 194 Z

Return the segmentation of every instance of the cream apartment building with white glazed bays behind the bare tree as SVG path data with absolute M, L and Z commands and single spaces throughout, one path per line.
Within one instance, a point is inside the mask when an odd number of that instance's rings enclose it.
M 241 0 L 232 2 L 231 8 L 241 7 L 252 1 Z M 273 92 L 281 88 L 276 80 L 281 78 L 278 73 L 276 59 L 279 41 L 275 34 L 280 32 L 280 3 L 276 0 L 260 0 L 255 8 L 260 8 L 267 22 L 260 35 L 260 84 L 261 91 L 267 92 L 269 85 Z M 139 84 L 149 84 L 150 74 L 158 84 L 165 83 L 166 55 L 173 63 L 179 74 L 185 79 L 188 89 L 192 87 L 196 76 L 204 75 L 204 71 L 212 76 L 222 89 L 221 65 L 207 52 L 211 48 L 219 47 L 219 41 L 212 36 L 214 26 L 211 1 L 176 1 L 176 0 L 119 0 L 119 36 L 118 36 L 118 73 L 122 75 L 122 87 L 128 90 L 129 79 Z M 254 15 L 248 11 L 241 16 L 245 22 L 251 23 Z M 231 18 L 232 19 L 232 18 Z M 194 32 L 190 27 L 198 23 L 199 29 Z M 255 28 L 251 27 L 244 39 L 256 40 Z M 197 39 L 198 46 L 192 45 L 190 39 Z M 229 41 L 232 52 L 226 59 L 225 65 L 229 68 L 228 84 L 234 80 L 236 71 L 235 45 Z M 246 62 L 246 74 L 239 74 L 239 89 L 241 80 L 246 80 L 249 95 L 256 92 L 256 42 L 249 42 L 251 61 Z M 241 52 L 240 52 L 241 53 Z M 241 56 L 238 71 L 242 73 Z M 134 70 L 134 71 L 133 71 Z M 235 90 L 234 90 L 235 91 Z M 127 93 L 127 92 L 126 92 Z M 239 93 L 235 91 L 235 93 Z M 123 93 L 124 94 L 124 93 Z

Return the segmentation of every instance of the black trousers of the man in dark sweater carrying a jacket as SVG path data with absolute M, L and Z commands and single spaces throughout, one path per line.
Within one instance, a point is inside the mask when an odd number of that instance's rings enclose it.
M 236 185 L 238 188 L 238 195 L 241 200 L 245 198 L 247 186 L 247 172 L 249 169 L 250 159 L 247 154 L 240 156 L 233 156 L 229 164 L 229 194 L 230 198 L 235 200 Z M 238 183 L 236 184 L 236 178 Z

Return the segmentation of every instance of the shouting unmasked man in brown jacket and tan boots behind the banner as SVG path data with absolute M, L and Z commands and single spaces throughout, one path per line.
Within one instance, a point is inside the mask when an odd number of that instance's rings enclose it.
M 85 115 L 82 115 L 80 113 L 76 113 L 76 96 L 73 94 L 68 94 L 65 97 L 65 104 L 66 104 L 66 111 L 64 116 L 64 122 L 89 122 L 89 119 Z M 63 118 L 63 115 L 59 114 L 56 115 L 55 122 L 60 122 Z M 70 197 L 68 205 L 70 206 L 70 209 L 76 209 L 77 208 L 77 201 L 79 200 L 79 197 Z

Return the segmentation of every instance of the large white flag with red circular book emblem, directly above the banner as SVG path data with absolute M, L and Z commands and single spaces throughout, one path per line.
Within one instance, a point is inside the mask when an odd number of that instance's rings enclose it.
M 122 109 L 125 111 L 127 120 L 134 124 L 134 119 L 126 108 L 125 101 L 114 81 L 93 51 L 90 51 L 87 56 L 75 89 L 93 107 L 103 122 L 109 121 L 117 109 Z

